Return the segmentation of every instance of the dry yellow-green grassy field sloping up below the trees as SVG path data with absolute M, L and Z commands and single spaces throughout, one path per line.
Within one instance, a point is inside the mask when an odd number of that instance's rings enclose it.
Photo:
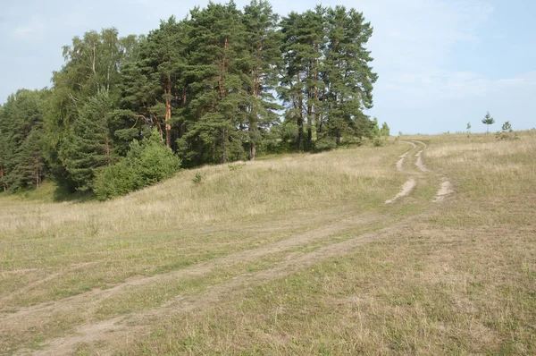
M 534 354 L 534 157 L 533 131 L 404 136 L 1 197 L 0 353 Z

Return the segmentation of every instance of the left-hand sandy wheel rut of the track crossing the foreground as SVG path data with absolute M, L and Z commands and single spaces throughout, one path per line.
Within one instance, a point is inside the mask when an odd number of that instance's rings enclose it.
M 230 267 L 237 263 L 255 262 L 264 256 L 276 253 L 290 253 L 290 250 L 305 246 L 310 242 L 325 239 L 333 234 L 347 231 L 348 229 L 373 224 L 385 220 L 386 217 L 387 216 L 378 214 L 364 214 L 362 216 L 348 215 L 331 222 L 329 225 L 324 225 L 321 228 L 306 231 L 304 233 L 295 233 L 285 240 L 270 243 L 259 249 L 236 252 L 219 259 L 199 263 L 167 274 L 129 280 L 110 289 L 93 290 L 60 301 L 47 302 L 28 308 L 21 308 L 19 311 L 8 314 L 0 319 L 0 335 L 9 337 L 9 335 L 23 335 L 24 333 L 29 333 L 33 327 L 46 325 L 54 321 L 54 318 L 57 318 L 58 312 L 68 312 L 80 315 L 80 318 L 87 320 L 88 324 L 77 327 L 77 333 L 80 335 L 69 336 L 64 339 L 71 340 L 68 343 L 72 345 L 75 345 L 76 343 L 88 343 L 93 340 L 91 335 L 93 335 L 94 332 L 96 334 L 106 333 L 110 329 L 113 329 L 113 326 L 118 321 L 122 320 L 122 318 L 113 318 L 103 322 L 96 321 L 97 310 L 105 305 L 106 300 L 110 298 L 127 295 L 140 288 L 144 288 L 144 286 L 163 283 L 180 283 L 180 281 L 185 278 L 208 275 L 213 272 L 215 268 Z M 54 343 L 63 344 L 62 340 L 63 339 L 57 339 Z M 54 350 L 54 348 L 52 350 Z M 61 352 L 56 350 L 48 353 L 38 352 L 37 354 L 64 353 L 68 353 L 68 351 L 65 349 Z

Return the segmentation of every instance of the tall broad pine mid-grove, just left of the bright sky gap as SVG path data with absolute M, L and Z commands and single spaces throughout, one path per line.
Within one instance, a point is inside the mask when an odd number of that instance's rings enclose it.
M 188 25 L 188 132 L 180 140 L 181 156 L 197 163 L 226 163 L 243 151 L 240 124 L 246 120 L 250 87 L 247 32 L 242 14 L 229 4 L 210 3 L 190 13 Z M 246 73 L 246 75 L 245 75 Z

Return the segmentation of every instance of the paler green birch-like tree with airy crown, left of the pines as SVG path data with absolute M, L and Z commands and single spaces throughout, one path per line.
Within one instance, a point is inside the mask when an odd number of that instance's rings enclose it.
M 73 126 L 92 97 L 105 93 L 111 106 L 118 108 L 121 68 L 131 60 L 129 51 L 136 49 L 136 37 L 119 38 L 113 28 L 86 32 L 73 38 L 71 46 L 63 47 L 65 64 L 53 74 L 54 87 L 46 106 L 44 153 L 54 179 L 70 189 L 78 188 L 81 182 L 80 177 L 71 176 L 72 170 L 63 161 L 72 147 Z M 121 129 L 130 126 L 130 119 Z

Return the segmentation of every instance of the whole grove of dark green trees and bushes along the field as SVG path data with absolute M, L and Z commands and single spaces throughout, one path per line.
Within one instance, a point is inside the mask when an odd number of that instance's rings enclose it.
M 364 114 L 378 78 L 372 34 L 354 9 L 280 17 L 264 0 L 196 7 L 147 35 L 89 31 L 63 47 L 50 89 L 0 106 L 0 190 L 50 177 L 106 199 L 179 167 L 389 132 Z

